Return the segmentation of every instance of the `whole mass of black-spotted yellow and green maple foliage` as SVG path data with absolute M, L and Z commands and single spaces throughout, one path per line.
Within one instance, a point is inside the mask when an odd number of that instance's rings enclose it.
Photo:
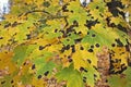
M 11 13 L 0 23 L 1 87 L 46 87 L 44 77 L 66 80 L 67 87 L 94 87 L 100 79 L 96 54 L 104 46 L 115 61 L 111 74 L 128 66 L 131 29 L 122 14 L 128 0 L 94 0 L 87 7 L 79 0 L 60 1 L 12 1 Z M 112 79 L 122 82 L 117 78 L 110 78 L 110 86 L 117 87 Z

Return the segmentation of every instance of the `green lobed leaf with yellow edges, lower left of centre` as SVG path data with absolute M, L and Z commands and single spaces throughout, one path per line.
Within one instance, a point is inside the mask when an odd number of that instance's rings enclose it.
M 48 72 L 48 76 L 51 75 L 52 69 L 56 67 L 57 65 L 52 61 L 47 61 L 49 58 L 51 58 L 53 54 L 50 52 L 44 52 L 43 57 L 35 57 L 33 59 L 33 63 L 36 66 L 36 76 L 38 75 L 44 75 L 46 72 Z M 33 55 L 34 57 L 34 55 Z M 36 59 L 37 58 L 37 59 Z

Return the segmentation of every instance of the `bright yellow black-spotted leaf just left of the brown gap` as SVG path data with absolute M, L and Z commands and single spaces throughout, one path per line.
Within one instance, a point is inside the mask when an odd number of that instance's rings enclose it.
M 97 58 L 95 53 L 90 53 L 86 49 L 81 50 L 81 45 L 75 46 L 75 53 L 72 54 L 72 60 L 74 63 L 74 69 L 80 70 L 80 67 L 88 67 L 88 61 L 91 60 L 91 65 L 97 66 Z

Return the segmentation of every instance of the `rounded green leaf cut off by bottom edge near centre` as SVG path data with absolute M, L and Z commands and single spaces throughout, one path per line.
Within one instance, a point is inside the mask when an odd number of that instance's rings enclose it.
M 67 87 L 84 87 L 80 72 L 73 69 L 73 65 L 64 67 L 57 73 L 58 80 L 67 80 Z

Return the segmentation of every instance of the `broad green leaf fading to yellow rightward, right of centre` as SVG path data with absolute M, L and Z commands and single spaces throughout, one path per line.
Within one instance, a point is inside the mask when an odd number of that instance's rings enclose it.
M 114 37 L 109 37 L 114 36 Z M 127 45 L 128 36 L 126 33 L 118 30 L 117 28 L 104 28 L 102 24 L 96 24 L 93 29 L 88 30 L 87 35 L 82 39 L 82 42 L 88 42 L 90 45 L 99 44 L 100 46 L 107 46 L 111 48 L 112 44 L 117 44 L 115 40 L 120 39 L 120 41 Z

